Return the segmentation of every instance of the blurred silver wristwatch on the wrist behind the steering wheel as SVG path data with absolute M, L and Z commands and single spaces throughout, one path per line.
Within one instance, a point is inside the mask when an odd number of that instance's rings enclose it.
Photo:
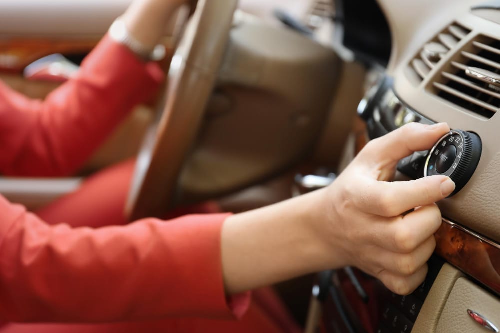
M 145 47 L 141 42 L 130 35 L 125 26 L 125 22 L 119 17 L 111 24 L 109 36 L 115 42 L 128 47 L 130 51 L 145 61 L 158 61 L 165 57 L 166 51 L 164 45 L 158 44 L 153 50 Z

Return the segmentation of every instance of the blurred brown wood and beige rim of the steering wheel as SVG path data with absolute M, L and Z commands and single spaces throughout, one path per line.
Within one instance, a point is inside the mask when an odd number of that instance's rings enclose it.
M 194 142 L 229 39 L 237 0 L 199 0 L 170 63 L 162 112 L 137 156 L 125 206 L 132 221 L 160 216 L 175 199 L 178 176 Z

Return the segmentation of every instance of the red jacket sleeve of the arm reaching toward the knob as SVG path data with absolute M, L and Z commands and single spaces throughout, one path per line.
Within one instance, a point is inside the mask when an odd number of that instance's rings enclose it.
M 144 219 L 99 229 L 49 226 L 0 196 L 0 319 L 109 322 L 241 315 L 226 300 L 226 214 Z

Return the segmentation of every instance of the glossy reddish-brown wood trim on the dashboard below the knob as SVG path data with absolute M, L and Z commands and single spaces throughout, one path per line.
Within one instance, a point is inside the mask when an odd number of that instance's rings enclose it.
M 500 294 L 500 245 L 443 219 L 435 252 L 447 262 Z

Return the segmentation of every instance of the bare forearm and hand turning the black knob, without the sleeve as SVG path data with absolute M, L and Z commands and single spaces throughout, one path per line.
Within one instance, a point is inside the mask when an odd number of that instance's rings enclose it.
M 233 215 L 222 229 L 229 293 L 308 272 L 356 266 L 398 294 L 425 278 L 441 224 L 445 176 L 389 182 L 399 159 L 429 149 L 447 124 L 408 124 L 370 141 L 329 187 Z M 415 208 L 414 211 L 407 213 Z

